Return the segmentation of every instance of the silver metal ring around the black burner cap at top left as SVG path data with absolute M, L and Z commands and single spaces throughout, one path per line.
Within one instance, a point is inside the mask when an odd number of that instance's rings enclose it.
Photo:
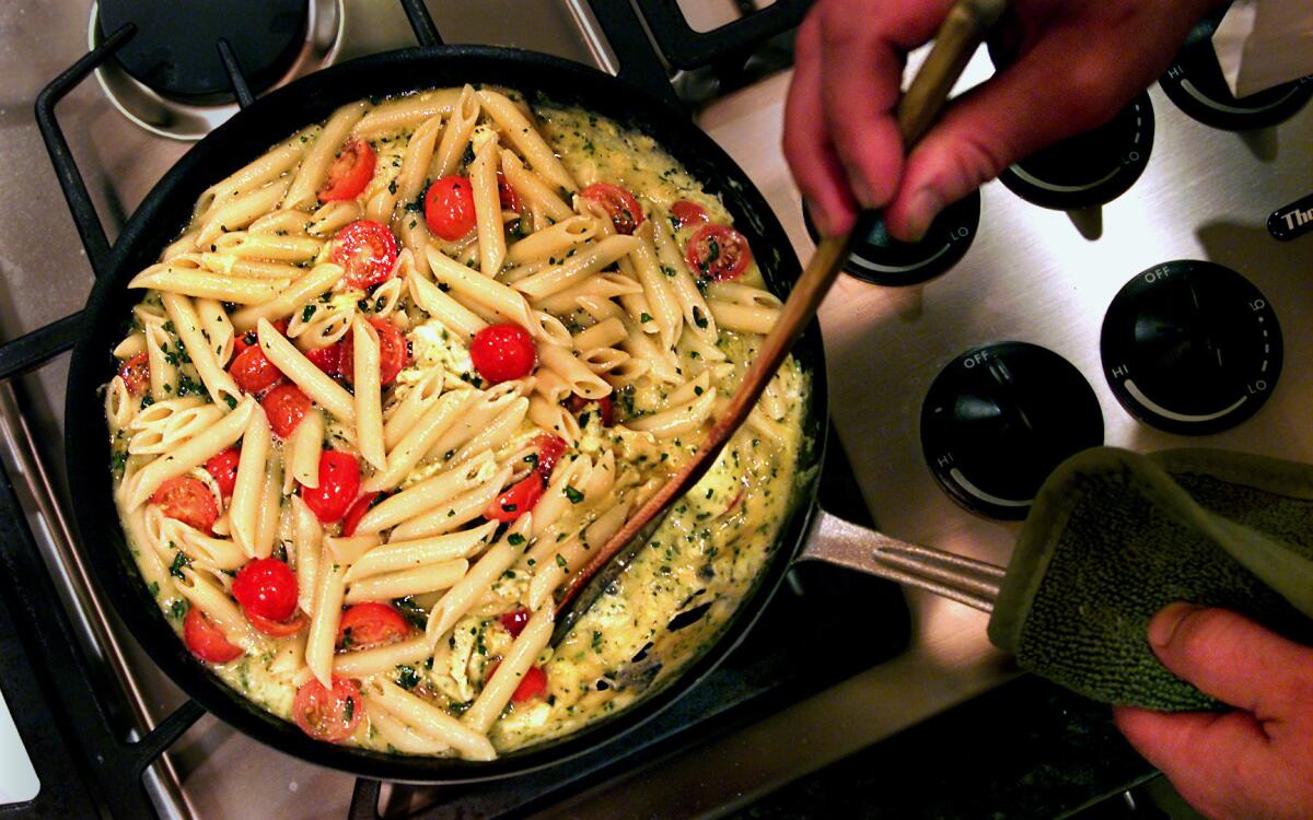
M 291 66 L 269 89 L 278 88 L 291 80 L 331 66 L 337 58 L 345 24 L 345 0 L 311 0 L 306 16 L 306 39 L 293 59 Z M 97 22 L 100 4 L 91 7 L 87 25 L 87 45 L 96 49 L 102 42 Z M 238 113 L 235 102 L 226 105 L 192 105 L 160 96 L 144 84 L 137 81 L 113 60 L 96 68 L 96 81 L 100 83 L 110 104 L 123 117 L 159 136 L 194 142 L 219 127 L 232 114 Z

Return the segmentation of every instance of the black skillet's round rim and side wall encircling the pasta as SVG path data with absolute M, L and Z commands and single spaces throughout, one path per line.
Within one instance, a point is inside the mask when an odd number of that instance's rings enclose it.
M 578 104 L 653 136 L 718 194 L 751 243 L 762 272 L 779 294 L 798 276 L 789 240 L 762 194 L 684 112 L 629 83 L 553 56 L 509 49 L 444 46 L 411 49 L 343 63 L 309 75 L 257 100 L 197 143 L 146 197 L 116 243 L 108 272 L 92 289 L 85 327 L 74 350 L 66 404 L 68 476 L 81 544 L 114 609 L 161 669 L 194 701 L 226 723 L 282 752 L 360 775 L 407 782 L 473 782 L 527 773 L 562 762 L 643 723 L 693 687 L 747 634 L 800 551 L 814 512 L 827 429 L 825 363 L 813 325 L 794 349 L 811 378 L 804 412 L 804 449 L 790 509 L 773 555 L 738 611 L 702 653 L 666 687 L 639 703 L 565 739 L 512 752 L 491 762 L 383 754 L 312 740 L 230 690 L 192 657 L 133 563 L 114 509 L 109 432 L 97 388 L 114 371 L 110 350 L 125 332 L 140 291 L 125 286 L 152 264 L 186 223 L 201 192 L 276 142 L 324 119 L 344 102 L 431 87 L 486 83 Z

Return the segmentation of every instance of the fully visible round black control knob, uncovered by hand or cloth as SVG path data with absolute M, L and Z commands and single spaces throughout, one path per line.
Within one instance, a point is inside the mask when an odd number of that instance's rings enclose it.
M 1249 279 L 1215 262 L 1165 262 L 1127 282 L 1103 318 L 1099 346 L 1121 405 L 1187 436 L 1249 419 L 1281 373 L 1281 329 L 1271 304 Z

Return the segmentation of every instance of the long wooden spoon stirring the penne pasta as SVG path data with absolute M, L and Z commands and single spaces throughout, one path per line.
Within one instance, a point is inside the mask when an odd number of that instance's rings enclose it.
M 1006 0 L 958 0 L 949 10 L 935 35 L 935 46 L 913 79 L 907 93 L 898 102 L 898 131 L 902 134 L 903 146 L 910 148 L 930 129 L 948 98 L 949 89 L 961 76 L 962 68 L 976 52 L 985 33 L 1002 16 L 1004 5 Z M 821 240 L 811 261 L 793 285 L 789 299 L 780 311 L 779 321 L 762 342 L 738 392 L 712 426 L 697 455 L 597 550 L 562 593 L 557 602 L 557 626 L 551 634 L 551 646 L 557 646 L 565 638 L 605 586 L 647 543 L 666 518 L 671 504 L 692 489 L 716 462 L 725 442 L 747 419 L 798 335 L 815 318 L 821 300 L 825 299 L 835 277 L 839 276 L 840 266 L 848 258 L 853 235 L 864 235 L 874 218 L 874 214 L 863 214 L 851 232 Z M 587 593 L 583 593 L 586 588 Z

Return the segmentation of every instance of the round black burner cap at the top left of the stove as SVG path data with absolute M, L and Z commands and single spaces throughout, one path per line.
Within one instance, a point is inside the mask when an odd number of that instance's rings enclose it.
M 309 0 L 100 0 L 101 35 L 137 24 L 116 56 L 152 91 L 197 104 L 235 98 L 218 43 L 226 39 L 259 92 L 291 66 L 305 41 Z

